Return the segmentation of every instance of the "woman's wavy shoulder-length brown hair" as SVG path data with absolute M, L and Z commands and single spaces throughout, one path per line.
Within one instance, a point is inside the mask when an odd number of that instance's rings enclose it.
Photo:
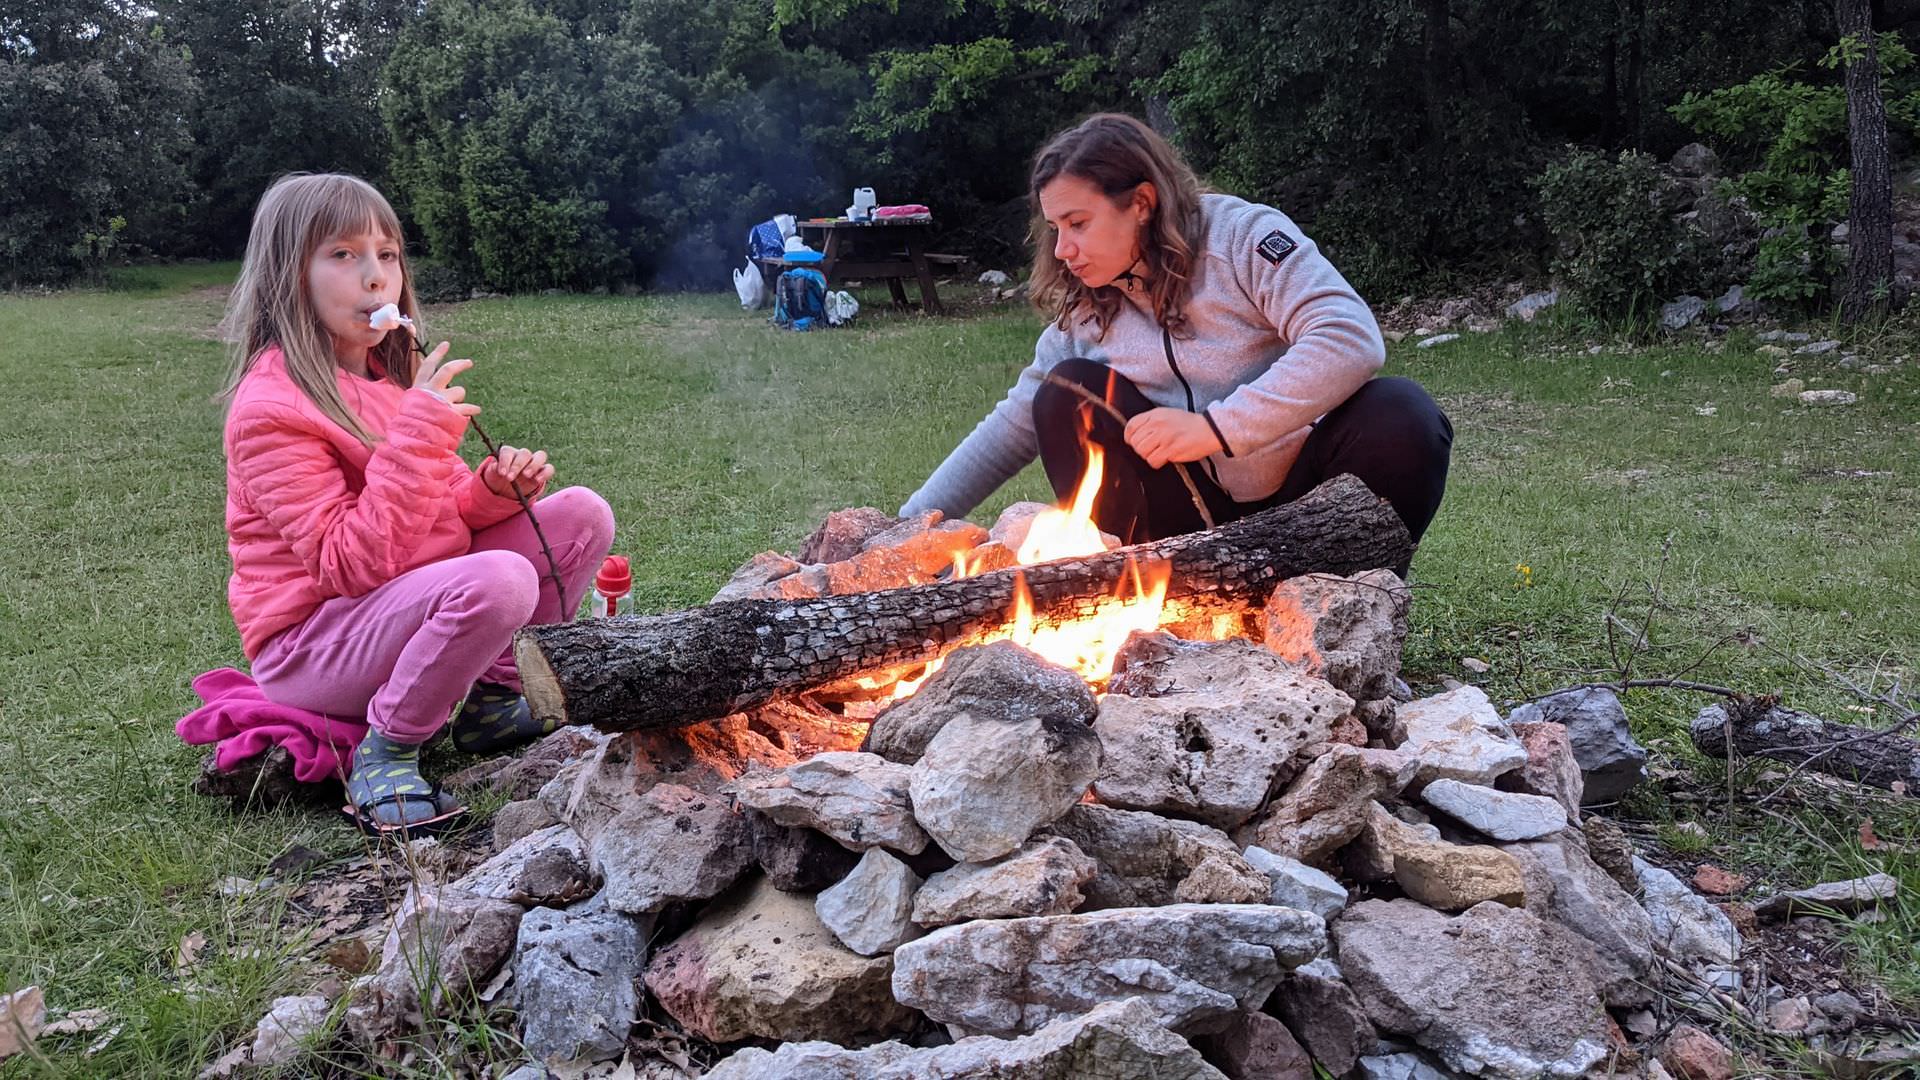
M 1041 188 L 1058 177 L 1079 177 L 1104 192 L 1116 206 L 1133 198 L 1142 183 L 1154 184 L 1158 202 L 1140 231 L 1140 258 L 1146 261 L 1146 292 L 1154 317 L 1175 334 L 1187 331 L 1187 298 L 1192 294 L 1192 267 L 1200 252 L 1200 194 L 1206 190 L 1192 167 L 1158 131 L 1125 113 L 1096 113 L 1062 131 L 1033 158 L 1027 202 L 1033 225 L 1033 306 L 1062 331 L 1079 313 L 1100 327 L 1100 336 L 1119 311 L 1119 288 L 1089 288 L 1068 265 L 1054 258 L 1052 225 L 1041 213 Z

